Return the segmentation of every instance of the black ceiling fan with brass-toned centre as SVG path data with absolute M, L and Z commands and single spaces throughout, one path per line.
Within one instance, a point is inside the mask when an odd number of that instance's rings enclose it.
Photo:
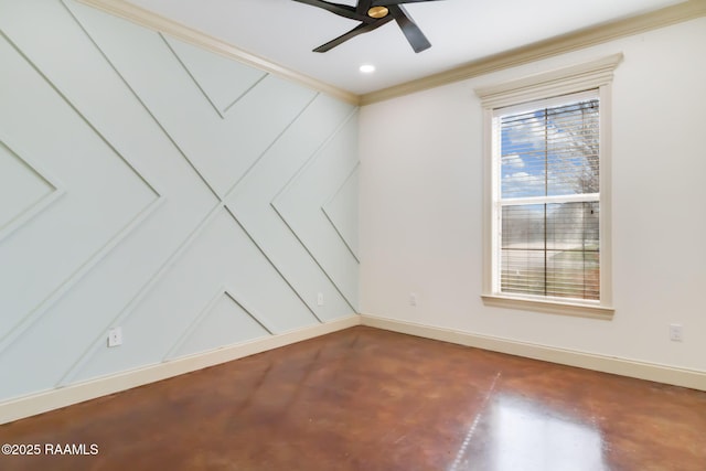
M 431 43 L 424 35 L 417 23 L 414 22 L 407 10 L 403 7 L 403 3 L 420 3 L 425 1 L 437 0 L 357 0 L 355 7 L 332 3 L 324 0 L 295 0 L 300 3 L 307 3 L 312 7 L 319 7 L 324 10 L 335 13 L 339 17 L 349 18 L 351 20 L 360 21 L 361 24 L 352 29 L 345 34 L 329 41 L 325 44 L 314 49 L 313 52 L 327 52 L 362 33 L 373 31 L 383 24 L 389 23 L 392 20 L 397 22 L 397 25 L 407 38 L 409 45 L 419 53 L 424 50 L 431 47 Z

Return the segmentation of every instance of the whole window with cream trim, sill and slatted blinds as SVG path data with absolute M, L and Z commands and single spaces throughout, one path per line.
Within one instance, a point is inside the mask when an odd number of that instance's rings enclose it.
M 610 318 L 610 82 L 622 55 L 478 89 L 490 306 Z

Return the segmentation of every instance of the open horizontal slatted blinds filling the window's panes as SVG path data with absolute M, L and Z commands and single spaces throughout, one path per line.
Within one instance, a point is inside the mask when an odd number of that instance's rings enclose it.
M 547 103 L 496 114 L 499 290 L 599 300 L 599 100 Z

